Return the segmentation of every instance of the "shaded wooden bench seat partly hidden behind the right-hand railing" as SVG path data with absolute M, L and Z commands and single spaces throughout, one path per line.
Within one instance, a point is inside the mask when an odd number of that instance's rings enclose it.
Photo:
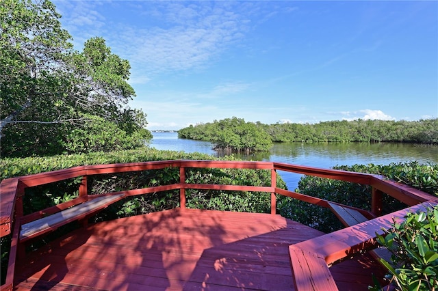
M 329 208 L 333 211 L 333 213 L 335 213 L 337 218 L 346 226 L 357 225 L 359 223 L 363 223 L 369 220 L 366 217 L 364 217 L 363 214 L 361 214 L 361 212 L 352 208 L 344 207 L 339 204 L 334 204 L 329 202 Z M 382 258 L 383 260 L 391 264 L 391 252 L 388 251 L 387 248 L 377 247 L 376 249 L 372 249 L 371 251 L 369 251 L 369 253 L 379 263 L 380 263 L 379 259 Z

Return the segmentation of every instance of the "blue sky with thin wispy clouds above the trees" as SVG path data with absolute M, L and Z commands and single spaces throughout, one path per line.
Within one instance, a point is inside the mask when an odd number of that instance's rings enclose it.
M 53 1 L 131 63 L 150 130 L 438 117 L 438 1 Z

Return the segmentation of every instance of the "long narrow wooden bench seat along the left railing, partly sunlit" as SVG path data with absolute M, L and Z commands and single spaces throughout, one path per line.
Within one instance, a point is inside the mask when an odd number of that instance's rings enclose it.
M 90 197 L 90 196 L 89 196 Z M 52 230 L 57 229 L 62 225 L 66 225 L 75 220 L 84 219 L 90 214 L 102 210 L 114 202 L 123 199 L 125 194 L 116 194 L 108 196 L 99 196 L 89 199 L 87 202 L 83 202 L 71 208 L 56 212 L 47 217 L 31 221 L 21 225 L 20 242 L 23 243 L 26 240 L 40 236 Z

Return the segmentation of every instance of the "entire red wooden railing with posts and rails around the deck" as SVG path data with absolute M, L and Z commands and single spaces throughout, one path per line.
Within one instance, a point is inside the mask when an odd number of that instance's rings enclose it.
M 87 179 L 98 174 L 115 174 L 132 171 L 146 171 L 154 169 L 164 169 L 168 167 L 179 168 L 179 182 L 175 184 L 153 186 L 145 189 L 129 189 L 126 191 L 106 193 L 103 195 L 88 195 Z M 265 169 L 271 171 L 270 186 L 238 186 L 224 184 L 191 184 L 185 182 L 185 169 L 188 168 L 220 168 L 220 169 Z M 285 163 L 271 162 L 248 162 L 248 161 L 154 161 L 144 163 L 114 164 L 114 165 L 91 165 L 73 167 L 59 171 L 21 176 L 5 179 L 0 184 L 1 208 L 0 208 L 0 235 L 1 237 L 11 235 L 12 243 L 10 248 L 10 258 L 6 282 L 1 286 L 1 290 L 12 290 L 14 282 L 14 266 L 16 256 L 20 252 L 24 241 L 20 238 L 21 225 L 36 221 L 50 214 L 55 214 L 66 210 L 77 204 L 81 204 L 96 197 L 114 196 L 128 197 L 133 195 L 143 195 L 159 191 L 179 189 L 180 206 L 185 208 L 186 189 L 212 189 L 223 191 L 255 191 L 271 193 L 271 213 L 276 212 L 276 194 L 300 199 L 304 202 L 317 204 L 322 207 L 330 208 L 329 202 L 317 197 L 311 197 L 287 191 L 276 187 L 276 171 L 289 171 L 309 176 L 319 176 L 335 180 L 344 180 L 372 186 L 372 205 L 371 211 L 352 208 L 361 212 L 370 219 L 364 223 L 359 223 L 352 227 L 347 227 L 331 234 L 326 234 L 311 240 L 306 240 L 289 247 L 289 255 L 292 263 L 292 273 L 294 275 L 297 290 L 337 290 L 335 281 L 331 277 L 329 265 L 337 260 L 346 258 L 352 253 L 372 249 L 376 247 L 376 233 L 383 233 L 382 228 L 389 228 L 393 218 L 402 219 L 409 211 L 424 210 L 428 206 L 438 204 L 438 197 L 428 195 L 410 186 L 385 180 L 381 176 L 372 174 L 361 174 L 350 171 L 339 171 L 334 169 L 320 169 L 315 167 L 305 167 L 300 165 L 289 165 Z M 79 186 L 79 197 L 58 204 L 51 208 L 38 212 L 23 214 L 23 196 L 27 187 L 39 186 L 52 182 L 59 182 L 70 178 L 82 177 Z M 381 215 L 383 194 L 390 195 L 409 206 L 398 212 L 393 212 L 385 216 Z M 123 194 L 123 195 L 120 195 Z M 350 206 L 343 206 L 351 208 Z M 83 219 L 86 217 L 84 214 Z M 44 230 L 38 234 L 50 231 Z

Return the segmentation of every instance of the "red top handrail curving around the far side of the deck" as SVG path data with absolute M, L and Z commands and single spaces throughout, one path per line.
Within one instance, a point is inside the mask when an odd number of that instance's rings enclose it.
M 360 182 L 363 184 L 370 184 L 372 181 L 373 186 L 380 189 L 383 192 L 389 192 L 389 195 L 397 197 L 409 205 L 416 204 L 418 202 L 423 202 L 431 198 L 431 195 L 422 193 L 422 191 L 417 191 L 411 187 L 402 186 L 394 182 L 384 181 L 381 177 L 352 173 L 348 171 L 339 171 L 333 169 L 319 169 L 315 167 L 305 167 L 300 165 L 287 165 L 283 163 L 269 163 L 269 162 L 248 162 L 248 161 L 151 161 L 143 163 L 130 163 L 130 164 L 114 164 L 114 165 L 91 165 L 91 166 L 80 166 L 73 167 L 70 169 L 63 169 L 59 171 L 52 171 L 48 173 L 35 174 L 30 176 L 19 177 L 18 180 L 21 181 L 25 186 L 37 186 L 40 184 L 46 184 L 49 182 L 56 182 L 60 180 L 65 180 L 68 178 L 75 178 L 77 176 L 86 176 L 92 174 L 110 174 L 123 171 L 142 171 L 146 169 L 163 169 L 165 167 L 231 167 L 231 168 L 249 168 L 249 169 L 279 169 L 283 171 L 293 171 L 301 174 L 309 174 L 315 176 L 322 176 L 325 178 L 335 178 L 339 180 L 347 180 L 350 182 Z M 179 185 L 181 186 L 181 184 Z M 154 191 L 166 191 L 172 186 L 163 188 L 163 190 L 157 188 Z M 185 187 L 185 186 L 184 186 Z M 188 187 L 185 187 L 188 188 Z M 8 234 L 10 232 L 10 217 L 12 216 L 12 209 L 15 203 L 14 193 L 8 193 L 8 180 L 3 180 L 0 186 L 2 191 L 2 208 L 0 217 L 0 234 Z M 3 191 L 6 190 L 6 191 Z M 252 189 L 251 191 L 257 191 L 258 189 Z M 279 191 L 276 192 L 279 193 Z M 240 191 L 240 190 L 239 190 Z M 263 189 L 261 189 L 263 191 Z M 139 191 L 142 193 L 142 191 Z M 17 195 L 17 194 L 15 194 Z M 135 191 L 127 195 L 137 195 Z M 287 195 L 287 194 L 286 194 Z M 11 200 L 12 199 L 12 200 Z M 318 201 L 309 200 L 310 203 L 318 204 Z M 326 203 L 319 201 L 324 206 Z M 3 205 L 4 204 L 4 205 Z M 5 206 L 5 207 L 3 207 Z M 324 206 L 326 207 L 326 205 Z M 4 210 L 4 211 L 3 211 Z

